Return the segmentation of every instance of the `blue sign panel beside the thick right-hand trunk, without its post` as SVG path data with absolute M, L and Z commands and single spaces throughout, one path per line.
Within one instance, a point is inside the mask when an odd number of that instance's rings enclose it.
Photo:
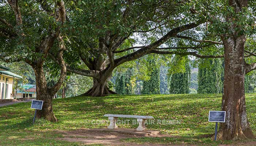
M 225 122 L 226 111 L 209 111 L 209 122 Z

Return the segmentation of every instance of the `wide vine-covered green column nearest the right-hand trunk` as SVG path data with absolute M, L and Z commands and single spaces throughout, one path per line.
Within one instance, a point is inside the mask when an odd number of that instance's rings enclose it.
M 222 93 L 222 59 L 204 59 L 198 69 L 198 93 Z

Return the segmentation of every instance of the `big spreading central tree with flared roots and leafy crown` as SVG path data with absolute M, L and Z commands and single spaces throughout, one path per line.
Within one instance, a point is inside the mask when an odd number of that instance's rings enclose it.
M 178 33 L 195 32 L 197 26 L 206 22 L 206 11 L 211 10 L 211 5 L 203 1 L 198 7 L 186 4 L 187 1 L 179 0 L 84 0 L 78 3 L 77 11 L 73 11 L 71 24 L 74 26 L 69 39 L 73 43 L 69 44 L 66 66 L 68 71 L 93 77 L 93 87 L 83 95 L 114 93 L 107 86 L 113 70 L 150 53 L 166 54 L 168 50 L 167 54 L 215 57 L 189 50 L 209 46 L 216 43 L 214 41 L 197 40 L 202 44 L 165 47 L 167 41 L 173 41 L 171 38 L 178 38 Z M 202 14 L 196 13 L 197 10 Z M 134 46 L 138 42 L 135 33 L 149 41 Z M 129 41 L 131 47 L 125 46 L 125 41 Z M 54 55 L 52 59 L 58 62 Z M 86 67 L 81 67 L 81 60 Z

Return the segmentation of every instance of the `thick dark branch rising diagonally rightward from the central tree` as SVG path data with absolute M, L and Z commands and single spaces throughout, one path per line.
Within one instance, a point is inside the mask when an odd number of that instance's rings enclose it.
M 190 23 L 190 24 L 186 24 L 184 26 L 180 26 L 177 28 L 172 29 L 171 31 L 169 31 L 166 35 L 164 35 L 162 38 L 160 38 L 158 41 L 143 47 L 142 49 L 139 49 L 137 51 L 135 51 L 134 53 L 125 55 L 123 57 L 120 57 L 118 59 L 115 59 L 115 64 L 116 66 L 123 64 L 124 62 L 127 61 L 131 61 L 134 59 L 138 59 L 148 53 L 150 53 L 151 50 L 157 48 L 158 46 L 162 45 L 163 43 L 165 43 L 169 38 L 174 37 L 175 35 L 177 35 L 179 32 L 185 31 L 185 30 L 189 30 L 191 28 L 195 28 L 197 26 L 199 26 L 200 24 L 206 22 L 206 20 L 202 19 L 199 20 L 198 23 Z

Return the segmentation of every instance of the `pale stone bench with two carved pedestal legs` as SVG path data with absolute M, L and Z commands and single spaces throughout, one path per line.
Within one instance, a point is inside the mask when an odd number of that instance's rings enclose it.
M 137 131 L 144 131 L 146 129 L 145 120 L 146 119 L 154 119 L 153 116 L 137 116 L 137 115 L 114 115 L 114 114 L 106 114 L 104 115 L 109 118 L 110 124 L 108 129 L 117 129 L 116 121 L 118 118 L 135 118 L 139 123 Z

